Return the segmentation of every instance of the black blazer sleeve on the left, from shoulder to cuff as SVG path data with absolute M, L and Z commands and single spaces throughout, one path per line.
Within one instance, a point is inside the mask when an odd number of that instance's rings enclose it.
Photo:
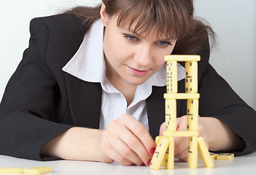
M 29 47 L 7 84 L 0 105 L 0 154 L 32 160 L 55 160 L 39 154 L 44 143 L 72 127 L 56 123 L 57 82 L 44 63 L 49 39 L 42 20 L 31 20 Z

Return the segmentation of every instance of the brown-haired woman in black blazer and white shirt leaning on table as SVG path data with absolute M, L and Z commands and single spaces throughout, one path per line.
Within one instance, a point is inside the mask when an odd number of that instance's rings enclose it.
M 210 66 L 214 32 L 193 18 L 192 0 L 103 0 L 31 20 L 30 31 L 0 105 L 0 154 L 148 165 L 165 129 L 169 54 L 201 55 L 198 130 L 209 150 L 255 151 L 256 112 Z M 178 131 L 186 107 L 177 101 Z M 187 139 L 175 138 L 175 157 L 187 160 Z

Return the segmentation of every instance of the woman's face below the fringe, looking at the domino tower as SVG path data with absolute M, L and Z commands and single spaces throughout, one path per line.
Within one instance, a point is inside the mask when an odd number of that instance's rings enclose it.
M 164 56 L 170 55 L 175 39 L 137 34 L 128 30 L 128 25 L 117 26 L 117 15 L 102 18 L 104 23 L 104 54 L 106 77 L 112 85 L 141 85 L 165 63 Z

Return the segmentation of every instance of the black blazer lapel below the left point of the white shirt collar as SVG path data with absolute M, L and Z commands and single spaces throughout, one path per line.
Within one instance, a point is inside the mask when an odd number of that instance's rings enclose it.
M 101 84 L 85 82 L 65 73 L 69 106 L 74 125 L 99 128 L 101 117 Z

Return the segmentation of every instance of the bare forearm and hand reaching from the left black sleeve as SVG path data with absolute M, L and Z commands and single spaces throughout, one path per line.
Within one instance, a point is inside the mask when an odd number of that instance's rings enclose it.
M 147 128 L 131 115 L 123 114 L 109 123 L 106 131 L 70 128 L 44 144 L 41 153 L 66 160 L 117 161 L 125 166 L 141 166 L 150 162 L 153 148 L 155 142 Z

